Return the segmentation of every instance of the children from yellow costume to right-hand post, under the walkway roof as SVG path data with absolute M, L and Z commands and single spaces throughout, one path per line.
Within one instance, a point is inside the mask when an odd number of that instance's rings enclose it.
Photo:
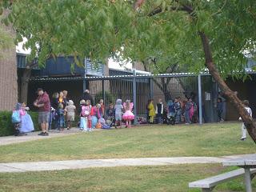
M 154 100 L 150 99 L 146 106 L 148 120 L 150 123 L 154 123 L 154 118 L 157 118 L 158 124 L 166 121 L 171 124 L 179 124 L 186 122 L 190 124 L 198 121 L 198 106 L 196 102 L 192 101 L 192 98 L 186 97 L 184 101 L 180 97 L 167 102 L 166 107 L 162 103 L 162 99 L 159 98 L 158 103 L 154 108 Z

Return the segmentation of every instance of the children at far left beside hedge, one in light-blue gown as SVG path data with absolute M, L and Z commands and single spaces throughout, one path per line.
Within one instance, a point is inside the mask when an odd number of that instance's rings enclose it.
M 14 124 L 15 136 L 22 136 L 34 131 L 34 123 L 30 114 L 27 113 L 27 110 L 30 110 L 30 108 L 26 106 L 25 102 L 18 102 L 13 110 L 11 121 Z

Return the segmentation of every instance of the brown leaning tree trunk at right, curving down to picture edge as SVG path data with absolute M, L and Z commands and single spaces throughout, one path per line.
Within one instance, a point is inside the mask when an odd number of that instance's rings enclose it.
M 213 76 L 215 81 L 218 82 L 218 86 L 222 90 L 223 94 L 225 94 L 226 97 L 230 99 L 235 108 L 238 110 L 242 121 L 246 124 L 246 129 L 250 134 L 250 137 L 254 140 L 256 144 L 256 124 L 253 121 L 253 118 L 250 117 L 250 114 L 248 114 L 245 106 L 242 104 L 242 101 L 238 98 L 237 94 L 235 94 L 234 91 L 230 90 L 230 87 L 226 85 L 226 82 L 222 79 L 216 66 L 214 65 L 214 61 L 210 51 L 209 38 L 207 38 L 206 34 L 202 32 L 199 32 L 199 35 L 201 37 L 202 46 L 205 53 L 206 67 L 208 68 L 210 74 Z

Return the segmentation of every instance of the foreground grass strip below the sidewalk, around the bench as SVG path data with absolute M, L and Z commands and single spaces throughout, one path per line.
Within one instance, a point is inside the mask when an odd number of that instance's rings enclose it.
M 85 170 L 42 171 L 0 174 L 0 191 L 200 191 L 188 183 L 224 172 L 219 164 L 183 166 L 130 166 Z M 256 182 L 253 182 L 256 191 Z M 238 178 L 214 191 L 245 191 Z

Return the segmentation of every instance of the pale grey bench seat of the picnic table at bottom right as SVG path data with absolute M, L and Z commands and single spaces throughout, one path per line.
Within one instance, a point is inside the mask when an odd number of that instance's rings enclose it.
M 218 184 L 221 184 L 223 182 L 228 182 L 234 178 L 241 177 L 244 174 L 245 174 L 244 169 L 232 170 L 225 174 L 218 174 L 211 178 L 205 178 L 202 180 L 198 180 L 196 182 L 190 182 L 189 187 L 201 188 L 203 192 L 209 192 L 214 190 L 214 187 L 217 186 Z M 256 169 L 251 169 L 250 170 L 251 178 L 253 178 L 255 174 L 256 174 Z

